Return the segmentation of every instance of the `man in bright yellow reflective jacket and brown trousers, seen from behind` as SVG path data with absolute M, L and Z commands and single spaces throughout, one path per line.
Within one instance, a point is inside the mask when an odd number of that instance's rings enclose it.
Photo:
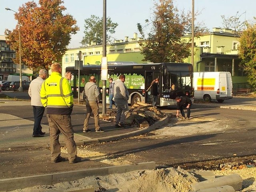
M 40 91 L 41 102 L 46 107 L 46 116 L 50 127 L 50 147 L 52 163 L 65 161 L 60 156 L 59 134 L 66 138 L 69 163 L 81 161 L 77 157 L 74 130 L 71 124 L 70 114 L 73 109 L 73 93 L 66 78 L 61 76 L 59 63 L 51 65 L 52 74 L 42 84 Z

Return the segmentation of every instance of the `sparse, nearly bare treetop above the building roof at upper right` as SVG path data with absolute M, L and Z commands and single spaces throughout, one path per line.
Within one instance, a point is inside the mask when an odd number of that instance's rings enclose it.
M 246 21 L 241 21 L 242 15 L 245 14 L 239 14 L 239 12 L 236 12 L 235 16 L 231 16 L 226 18 L 224 15 L 221 15 L 222 18 L 222 25 L 226 29 L 232 29 L 234 30 L 234 33 L 238 33 L 241 30 L 244 30 L 246 27 Z

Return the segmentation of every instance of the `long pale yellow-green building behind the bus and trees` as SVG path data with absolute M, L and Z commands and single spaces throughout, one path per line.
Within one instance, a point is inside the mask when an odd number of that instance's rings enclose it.
M 183 38 L 191 38 L 191 35 Z M 138 38 L 136 33 L 133 38 L 128 36 L 124 40 L 115 40 L 113 44 L 106 46 L 108 61 L 132 61 L 142 63 L 144 56 L 141 54 L 139 42 L 143 40 Z M 232 74 L 233 83 L 246 82 L 247 77 L 239 68 L 240 59 L 238 58 L 239 34 L 234 34 L 230 29 L 213 28 L 212 32 L 202 34 L 194 38 L 194 71 L 226 71 Z M 101 63 L 102 45 L 94 45 L 80 48 L 68 49 L 62 58 L 62 73 L 65 68 L 74 66 L 75 60 L 78 60 L 78 52 L 82 51 L 83 63 L 98 64 Z M 191 57 L 184 60 L 191 63 Z

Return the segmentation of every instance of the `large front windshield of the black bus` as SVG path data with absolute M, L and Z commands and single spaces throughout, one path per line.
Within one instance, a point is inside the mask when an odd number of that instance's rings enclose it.
M 192 77 L 189 72 L 167 72 L 162 82 L 163 94 L 192 88 Z

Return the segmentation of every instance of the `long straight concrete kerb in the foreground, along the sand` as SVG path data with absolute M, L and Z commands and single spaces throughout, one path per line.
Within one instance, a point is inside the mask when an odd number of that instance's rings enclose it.
M 109 166 L 70 172 L 60 172 L 54 174 L 44 174 L 36 176 L 1 179 L 1 190 L 16 190 L 36 185 L 54 185 L 60 182 L 78 180 L 87 176 L 104 176 L 114 173 L 125 173 L 134 170 L 155 170 L 156 162 L 144 162 L 133 165 Z

